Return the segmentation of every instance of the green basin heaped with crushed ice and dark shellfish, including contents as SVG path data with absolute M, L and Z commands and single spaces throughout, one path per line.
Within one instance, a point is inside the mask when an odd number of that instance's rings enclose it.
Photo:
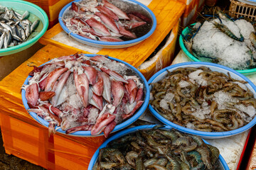
M 222 11 L 186 27 L 179 38 L 185 54 L 195 62 L 213 62 L 248 75 L 256 72 L 254 23 L 230 18 Z

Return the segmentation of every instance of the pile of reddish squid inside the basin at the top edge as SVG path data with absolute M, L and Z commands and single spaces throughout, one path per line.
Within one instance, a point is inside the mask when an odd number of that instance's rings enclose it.
M 149 31 L 151 22 L 151 19 L 142 13 L 127 14 L 107 0 L 73 2 L 70 11 L 63 15 L 63 23 L 72 33 L 107 42 L 137 38 L 134 28 L 138 27 L 146 29 L 144 35 Z M 138 33 L 139 36 L 142 36 L 141 34 Z

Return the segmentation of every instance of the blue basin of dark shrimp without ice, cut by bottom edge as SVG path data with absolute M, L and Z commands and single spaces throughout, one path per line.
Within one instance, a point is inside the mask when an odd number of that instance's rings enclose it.
M 229 169 L 218 148 L 168 126 L 141 125 L 110 137 L 88 169 Z

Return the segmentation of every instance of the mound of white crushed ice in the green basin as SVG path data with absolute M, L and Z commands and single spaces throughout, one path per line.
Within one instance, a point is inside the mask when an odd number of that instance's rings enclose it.
M 213 58 L 213 62 L 223 64 L 232 69 L 247 69 L 252 65 L 253 52 L 255 47 L 252 46 L 250 34 L 255 33 L 252 24 L 244 19 L 233 21 L 222 20 L 221 24 L 227 26 L 237 38 L 241 35 L 245 40 L 240 42 L 230 38 L 223 32 L 220 32 L 213 23 L 220 23 L 218 19 L 205 21 L 203 26 L 193 38 L 193 51 L 202 60 Z

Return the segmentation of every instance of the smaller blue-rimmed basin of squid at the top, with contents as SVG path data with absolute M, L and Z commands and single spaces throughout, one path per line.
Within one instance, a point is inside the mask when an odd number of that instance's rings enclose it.
M 75 40 L 100 48 L 137 45 L 156 29 L 154 13 L 134 0 L 76 0 L 60 11 L 59 23 Z

